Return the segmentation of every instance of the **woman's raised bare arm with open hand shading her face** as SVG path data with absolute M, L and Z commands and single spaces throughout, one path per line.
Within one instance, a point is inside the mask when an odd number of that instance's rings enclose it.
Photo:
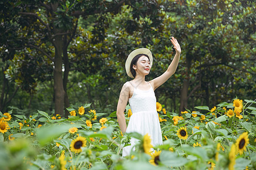
M 172 37 L 171 42 L 174 45 L 176 54 L 174 56 L 174 59 L 172 59 L 172 62 L 169 65 L 166 72 L 164 72 L 162 75 L 160 75 L 157 78 L 150 81 L 151 85 L 154 87 L 154 90 L 156 88 L 158 88 L 159 86 L 161 86 L 164 82 L 166 82 L 172 76 L 172 74 L 175 73 L 175 71 L 177 69 L 177 65 L 178 65 L 179 59 L 180 59 L 181 49 L 180 49 L 179 43 L 177 42 L 177 40 L 174 37 Z

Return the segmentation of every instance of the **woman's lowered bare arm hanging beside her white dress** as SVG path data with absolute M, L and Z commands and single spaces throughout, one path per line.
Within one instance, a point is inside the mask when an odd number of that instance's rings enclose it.
M 122 90 L 120 92 L 118 104 L 117 104 L 117 120 L 122 133 L 126 132 L 126 121 L 125 121 L 124 112 L 125 112 L 127 101 L 129 99 L 129 92 L 130 92 L 129 83 L 126 82 L 125 84 L 123 84 Z

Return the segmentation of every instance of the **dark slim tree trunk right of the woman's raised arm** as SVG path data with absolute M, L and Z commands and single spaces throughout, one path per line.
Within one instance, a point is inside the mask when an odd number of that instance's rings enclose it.
M 188 108 L 188 87 L 189 87 L 189 80 L 190 80 L 189 73 L 190 73 L 191 61 L 192 61 L 192 58 L 187 56 L 186 57 L 186 66 L 187 66 L 186 78 L 183 82 L 183 87 L 181 88 L 181 94 L 180 94 L 180 112 L 184 111 L 185 108 Z

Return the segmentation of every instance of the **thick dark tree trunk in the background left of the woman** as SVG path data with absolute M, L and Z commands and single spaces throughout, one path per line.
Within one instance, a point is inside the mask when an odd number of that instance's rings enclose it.
M 58 33 L 58 32 L 57 32 Z M 54 94 L 55 94 L 55 114 L 64 116 L 64 95 L 63 75 L 62 75 L 62 50 L 63 40 L 62 36 L 55 37 L 55 58 L 54 58 Z

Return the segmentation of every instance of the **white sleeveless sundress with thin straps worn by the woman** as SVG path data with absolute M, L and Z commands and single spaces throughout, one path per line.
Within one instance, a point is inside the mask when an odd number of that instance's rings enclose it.
M 149 82 L 147 83 L 150 84 Z M 148 134 L 150 135 L 152 146 L 163 145 L 158 112 L 156 111 L 155 92 L 151 84 L 150 90 L 147 91 L 134 87 L 133 96 L 129 99 L 129 104 L 133 114 L 130 117 L 126 133 Z M 131 149 L 135 150 L 136 141 L 138 140 L 131 138 L 131 145 L 123 147 L 122 156 L 130 155 Z

